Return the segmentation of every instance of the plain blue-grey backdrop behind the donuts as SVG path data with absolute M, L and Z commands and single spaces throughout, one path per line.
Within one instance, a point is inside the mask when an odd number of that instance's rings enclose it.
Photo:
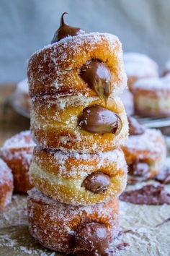
M 0 82 L 26 76 L 27 59 L 50 43 L 62 12 L 88 32 L 118 35 L 124 51 L 170 59 L 170 0 L 0 0 Z

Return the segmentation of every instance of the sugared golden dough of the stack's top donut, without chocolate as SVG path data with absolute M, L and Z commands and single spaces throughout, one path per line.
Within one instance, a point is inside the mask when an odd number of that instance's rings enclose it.
M 110 70 L 112 95 L 126 87 L 120 40 L 107 33 L 89 33 L 63 38 L 32 55 L 28 64 L 30 96 L 71 94 L 96 96 L 79 73 L 91 59 Z

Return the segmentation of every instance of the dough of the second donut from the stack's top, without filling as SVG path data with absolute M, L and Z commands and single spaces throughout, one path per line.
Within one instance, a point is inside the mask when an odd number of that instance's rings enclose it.
M 35 98 L 32 101 L 31 130 L 35 142 L 42 148 L 97 153 L 110 151 L 122 145 L 128 136 L 128 120 L 120 98 L 109 98 L 107 109 L 120 116 L 122 129 L 118 135 L 112 132 L 99 135 L 78 127 L 79 115 L 87 106 L 103 106 L 99 98 L 61 97 Z

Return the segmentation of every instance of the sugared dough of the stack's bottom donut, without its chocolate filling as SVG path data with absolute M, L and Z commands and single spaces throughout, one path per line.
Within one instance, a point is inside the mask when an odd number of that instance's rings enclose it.
M 86 223 L 104 224 L 109 242 L 118 233 L 117 199 L 92 206 L 73 206 L 52 200 L 32 189 L 27 207 L 30 234 L 44 247 L 58 252 L 70 252 L 70 235 Z

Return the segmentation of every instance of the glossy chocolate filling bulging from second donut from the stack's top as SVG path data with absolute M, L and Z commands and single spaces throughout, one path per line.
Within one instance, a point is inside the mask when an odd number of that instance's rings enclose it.
M 115 112 L 102 106 L 94 105 L 84 108 L 79 116 L 79 127 L 86 132 L 102 135 L 107 132 L 118 135 L 122 129 L 122 121 Z

